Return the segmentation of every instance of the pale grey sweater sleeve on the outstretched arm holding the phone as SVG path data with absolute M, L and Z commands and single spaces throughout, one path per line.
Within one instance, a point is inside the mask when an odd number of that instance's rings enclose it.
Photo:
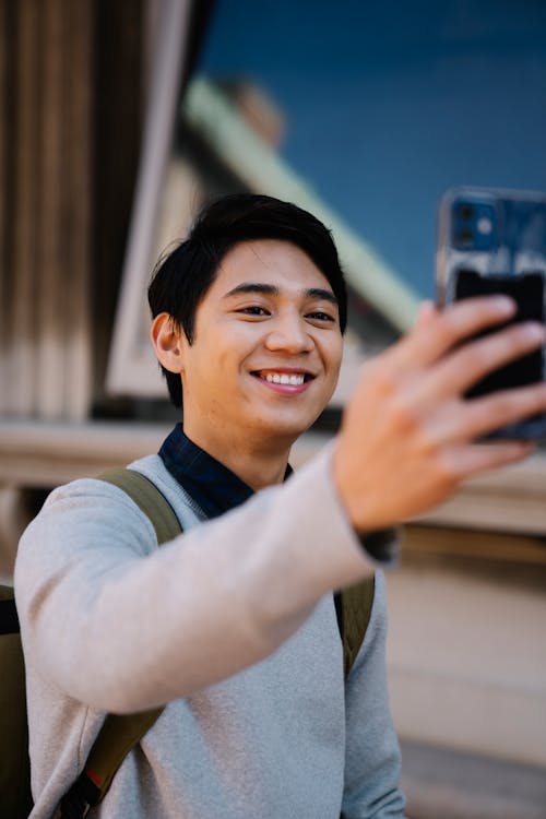
M 147 709 L 259 662 L 323 594 L 375 568 L 336 497 L 328 450 L 161 549 L 124 492 L 76 480 L 51 494 L 20 544 L 25 656 L 93 709 Z

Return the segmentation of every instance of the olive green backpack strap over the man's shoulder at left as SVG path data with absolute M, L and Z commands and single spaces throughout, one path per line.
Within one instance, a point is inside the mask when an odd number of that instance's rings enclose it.
M 127 468 L 110 470 L 100 480 L 122 489 L 152 522 L 159 546 L 182 531 L 171 506 L 149 478 Z M 163 708 L 138 714 L 107 714 L 88 753 L 83 772 L 61 802 L 62 819 L 81 819 L 108 793 L 111 781 L 140 739 L 156 722 Z

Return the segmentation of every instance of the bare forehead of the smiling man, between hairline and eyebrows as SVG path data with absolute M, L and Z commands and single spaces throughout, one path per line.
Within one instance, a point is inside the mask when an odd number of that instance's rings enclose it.
M 278 239 L 256 239 L 235 245 L 222 260 L 211 287 L 224 295 L 242 282 L 272 284 L 283 292 L 332 290 L 325 275 L 299 247 Z

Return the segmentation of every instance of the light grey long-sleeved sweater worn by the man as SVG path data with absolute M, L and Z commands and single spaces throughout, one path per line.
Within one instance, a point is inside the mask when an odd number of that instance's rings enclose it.
M 346 685 L 333 589 L 377 567 L 323 452 L 285 485 L 199 523 L 157 455 L 185 533 L 157 548 L 117 487 L 76 480 L 25 532 L 15 587 L 27 666 L 33 819 L 56 814 L 105 712 L 167 702 L 102 819 L 400 819 L 384 581 Z M 199 525 L 197 525 L 199 523 Z

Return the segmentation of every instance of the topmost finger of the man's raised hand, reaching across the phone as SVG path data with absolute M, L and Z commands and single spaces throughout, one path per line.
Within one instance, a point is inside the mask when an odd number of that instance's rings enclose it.
M 391 347 L 390 364 L 404 372 L 441 358 L 471 335 L 510 319 L 515 302 L 507 296 L 480 296 L 450 305 Z

